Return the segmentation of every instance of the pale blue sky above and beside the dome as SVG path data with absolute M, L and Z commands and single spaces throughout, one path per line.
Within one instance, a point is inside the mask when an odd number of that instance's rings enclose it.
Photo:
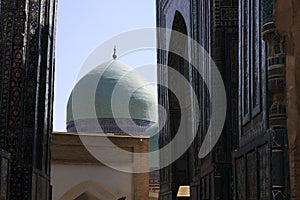
M 66 104 L 82 64 L 113 36 L 155 27 L 155 1 L 59 0 L 58 4 L 53 130 L 66 131 Z M 113 53 L 113 47 L 108 51 Z M 121 61 L 132 67 L 154 64 L 155 51 L 135 52 Z M 145 74 L 154 77 L 155 69 Z

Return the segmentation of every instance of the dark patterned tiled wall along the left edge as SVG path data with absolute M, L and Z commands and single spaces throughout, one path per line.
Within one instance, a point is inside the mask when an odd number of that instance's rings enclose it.
M 50 199 L 55 0 L 2 0 L 0 146 L 11 154 L 9 199 Z

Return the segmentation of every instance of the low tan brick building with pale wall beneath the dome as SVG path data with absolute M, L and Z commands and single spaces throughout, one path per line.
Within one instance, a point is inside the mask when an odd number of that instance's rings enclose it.
M 53 200 L 148 199 L 149 173 L 128 173 L 138 166 L 134 156 L 118 156 L 116 146 L 134 153 L 149 151 L 149 137 L 113 133 L 53 133 L 51 184 Z M 113 144 L 109 144 L 109 139 Z M 86 140 L 86 142 L 82 142 Z M 93 148 L 93 153 L 89 151 Z M 95 152 L 108 155 L 100 162 Z M 148 158 L 145 157 L 148 165 Z M 115 164 L 124 171 L 111 168 Z

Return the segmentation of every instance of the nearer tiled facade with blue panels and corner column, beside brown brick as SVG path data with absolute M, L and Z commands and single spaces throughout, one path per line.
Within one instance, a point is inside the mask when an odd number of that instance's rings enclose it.
M 272 0 L 240 1 L 239 85 L 242 119 L 239 148 L 235 155 L 243 154 L 247 158 L 246 173 L 243 174 L 248 182 L 247 199 L 287 199 L 289 193 L 284 39 L 274 32 L 272 7 Z M 265 144 L 262 137 L 266 140 Z M 255 152 L 256 156 L 250 152 Z M 240 167 L 237 162 L 235 165 L 235 168 Z M 241 179 L 239 176 L 236 174 L 236 185 Z M 241 193 L 245 191 L 236 188 L 235 198 L 244 198 Z

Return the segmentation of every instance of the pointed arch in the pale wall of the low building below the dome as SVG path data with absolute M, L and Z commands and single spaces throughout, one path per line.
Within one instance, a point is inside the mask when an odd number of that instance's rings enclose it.
M 90 195 L 99 200 L 116 200 L 114 195 L 107 188 L 94 181 L 85 181 L 72 187 L 59 200 L 75 200 L 82 195 Z

